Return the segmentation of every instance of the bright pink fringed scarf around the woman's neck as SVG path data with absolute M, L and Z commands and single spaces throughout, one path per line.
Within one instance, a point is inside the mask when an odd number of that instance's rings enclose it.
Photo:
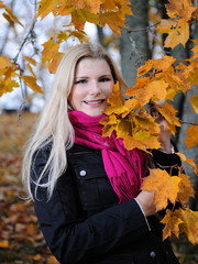
M 107 176 L 118 195 L 120 202 L 134 198 L 146 176 L 145 160 L 147 154 L 134 148 L 125 150 L 121 139 L 102 138 L 100 120 L 106 117 L 90 117 L 80 111 L 70 111 L 69 120 L 75 130 L 75 143 L 94 150 L 101 150 Z

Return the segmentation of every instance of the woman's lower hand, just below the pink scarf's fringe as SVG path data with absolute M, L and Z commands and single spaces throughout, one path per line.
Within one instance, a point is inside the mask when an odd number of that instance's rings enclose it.
M 135 199 L 140 202 L 145 217 L 155 215 L 157 212 L 154 204 L 154 194 L 142 190 Z

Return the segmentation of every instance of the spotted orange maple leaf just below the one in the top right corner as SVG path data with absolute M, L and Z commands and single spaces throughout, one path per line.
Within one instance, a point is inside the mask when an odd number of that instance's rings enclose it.
M 189 38 L 189 24 L 185 19 L 161 20 L 156 31 L 168 34 L 165 40 L 165 47 L 174 48 L 178 44 L 185 46 Z

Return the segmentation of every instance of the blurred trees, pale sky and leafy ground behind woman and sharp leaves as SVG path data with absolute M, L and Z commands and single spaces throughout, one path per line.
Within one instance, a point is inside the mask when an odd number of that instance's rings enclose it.
M 24 142 L 29 139 L 30 131 L 47 100 L 54 79 L 54 75 L 42 66 L 42 44 L 68 25 L 70 18 L 69 15 L 54 18 L 50 14 L 44 20 L 37 19 L 34 22 L 36 1 L 7 0 L 3 3 L 12 10 L 24 26 L 20 24 L 11 26 L 2 16 L 3 9 L 0 9 L 0 56 L 7 56 L 13 61 L 18 58 L 18 63 L 24 70 L 23 56 L 34 58 L 37 64 L 33 70 L 44 94 L 33 92 L 24 82 L 20 82 L 20 88 L 0 97 L 0 263 L 57 263 L 40 232 L 33 205 L 25 200 L 26 195 L 21 185 L 20 170 Z M 99 28 L 88 22 L 85 25 L 85 32 L 90 41 L 100 43 L 112 55 L 129 86 L 135 84 L 136 69 L 148 58 L 160 58 L 165 54 L 177 59 L 190 57 L 193 48 L 190 41 L 185 48 L 178 45 L 174 51 L 163 50 L 165 35 L 153 30 L 152 25 L 167 18 L 166 3 L 165 0 L 131 0 L 134 16 L 127 15 L 125 24 L 129 31 L 122 29 L 121 37 L 113 34 L 108 26 Z M 198 1 L 195 0 L 194 4 L 197 7 Z M 198 38 L 198 23 L 191 25 L 190 37 Z M 22 46 L 24 40 L 25 43 Z M 77 43 L 79 43 L 77 38 L 69 37 L 61 45 L 61 52 Z M 177 129 L 174 141 L 179 152 L 197 164 L 197 145 L 187 150 L 183 142 L 187 135 L 184 131 L 190 123 L 197 122 L 197 114 L 189 103 L 189 96 L 196 92 L 197 87 L 193 87 L 191 91 L 185 96 L 178 94 L 175 97 L 174 106 L 178 110 L 183 125 Z M 190 200 L 190 207 L 193 210 L 198 210 L 198 177 L 189 167 L 185 170 L 190 176 L 196 190 L 196 199 Z M 191 245 L 185 237 L 180 237 L 180 240 L 173 238 L 172 241 L 182 264 L 198 263 L 197 246 Z

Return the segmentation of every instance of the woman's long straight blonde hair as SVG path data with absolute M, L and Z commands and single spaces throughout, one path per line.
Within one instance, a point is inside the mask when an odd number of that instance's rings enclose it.
M 76 66 L 82 58 L 87 57 L 106 59 L 111 68 L 114 81 L 119 81 L 121 89 L 127 89 L 127 84 L 120 76 L 113 61 L 101 46 L 90 43 L 79 44 L 64 54 L 56 70 L 51 97 L 40 116 L 31 139 L 25 145 L 22 182 L 32 199 L 31 184 L 33 179 L 31 179 L 31 169 L 34 167 L 35 155 L 40 150 L 50 143 L 52 144 L 48 161 L 36 183 L 34 183 L 36 186 L 35 197 L 37 187 L 45 187 L 50 199 L 57 178 L 67 167 L 66 151 L 74 144 L 74 129 L 68 119 L 67 98 L 73 88 Z M 48 173 L 47 182 L 42 183 L 46 172 Z

